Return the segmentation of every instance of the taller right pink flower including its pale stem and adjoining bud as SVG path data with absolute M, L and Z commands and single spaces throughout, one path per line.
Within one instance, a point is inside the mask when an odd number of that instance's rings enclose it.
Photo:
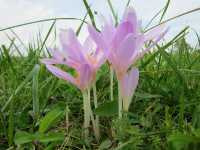
M 163 38 L 167 30 L 163 31 L 163 26 L 158 26 L 147 33 L 141 32 L 141 22 L 138 21 L 133 8 L 127 8 L 117 27 L 114 26 L 112 20 L 104 19 L 104 22 L 100 33 L 91 25 L 88 25 L 88 31 L 98 47 L 104 51 L 116 72 L 119 83 L 119 115 L 121 116 L 121 109 L 128 110 L 139 79 L 137 69 L 129 72 L 129 68 L 149 52 Z M 145 48 L 145 44 L 149 46 Z M 123 103 L 120 100 L 121 96 Z

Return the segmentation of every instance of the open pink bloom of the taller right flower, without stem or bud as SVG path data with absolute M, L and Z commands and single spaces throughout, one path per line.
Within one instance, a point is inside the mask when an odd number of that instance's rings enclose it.
M 159 26 L 144 34 L 140 31 L 140 26 L 141 22 L 137 20 L 133 8 L 125 11 L 117 27 L 114 27 L 112 21 L 106 20 L 101 33 L 91 25 L 88 26 L 90 36 L 104 51 L 118 79 L 122 78 L 128 68 L 142 58 L 166 33 L 162 32 L 163 27 Z M 150 41 L 153 41 L 151 45 L 144 49 L 144 45 Z

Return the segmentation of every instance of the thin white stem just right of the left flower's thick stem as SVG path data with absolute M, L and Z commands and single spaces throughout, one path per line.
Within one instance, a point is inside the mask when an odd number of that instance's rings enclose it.
M 94 97 L 94 107 L 98 107 L 98 102 L 97 102 L 97 89 L 96 89 L 96 83 L 93 84 L 93 97 Z M 99 129 L 99 116 L 96 115 L 95 117 L 95 126 L 96 126 L 96 138 L 99 140 L 100 138 L 100 129 Z

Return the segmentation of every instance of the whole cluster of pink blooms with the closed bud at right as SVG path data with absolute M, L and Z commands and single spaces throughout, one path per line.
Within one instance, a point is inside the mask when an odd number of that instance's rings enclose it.
M 88 32 L 89 36 L 81 44 L 72 29 L 62 30 L 62 49 L 51 50 L 52 58 L 44 58 L 41 61 L 55 76 L 74 84 L 83 93 L 95 84 L 98 69 L 108 61 L 116 73 L 119 84 L 121 117 L 122 111 L 128 111 L 138 85 L 139 70 L 134 64 L 163 38 L 166 30 L 163 31 L 163 26 L 158 26 L 143 33 L 134 9 L 127 8 L 119 25 L 115 26 L 112 20 L 104 19 L 100 32 L 92 25 L 88 25 Z M 73 68 L 76 76 L 59 69 L 55 66 L 57 64 Z M 88 118 L 85 119 L 93 118 L 91 108 L 87 115 Z M 87 128 L 88 123 L 86 124 Z

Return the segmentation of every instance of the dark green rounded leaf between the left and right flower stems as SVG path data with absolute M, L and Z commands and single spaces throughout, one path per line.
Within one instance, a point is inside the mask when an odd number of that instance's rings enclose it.
M 95 114 L 99 116 L 113 116 L 118 113 L 118 102 L 111 101 L 101 104 L 97 109 L 95 109 Z

